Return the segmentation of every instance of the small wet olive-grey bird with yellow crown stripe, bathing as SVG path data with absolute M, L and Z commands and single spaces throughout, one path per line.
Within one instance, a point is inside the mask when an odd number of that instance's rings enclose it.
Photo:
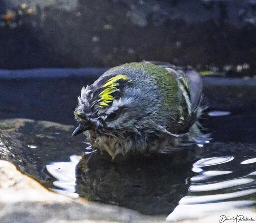
M 96 151 L 117 154 L 171 152 L 205 144 L 198 118 L 202 81 L 194 70 L 183 72 L 162 62 L 133 62 L 106 71 L 83 87 L 74 111 Z

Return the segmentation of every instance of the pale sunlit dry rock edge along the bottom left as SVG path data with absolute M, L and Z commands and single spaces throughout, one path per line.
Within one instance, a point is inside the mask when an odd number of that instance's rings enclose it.
M 1 223 L 119 223 L 164 222 L 111 205 L 70 199 L 50 192 L 16 167 L 0 161 Z

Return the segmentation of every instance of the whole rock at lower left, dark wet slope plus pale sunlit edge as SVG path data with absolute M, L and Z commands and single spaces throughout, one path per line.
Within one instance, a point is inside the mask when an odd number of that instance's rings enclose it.
M 81 154 L 84 150 L 81 141 L 78 140 L 76 146 L 72 142 L 72 129 L 72 126 L 45 121 L 1 120 L 0 159 L 11 161 L 22 172 L 53 187 L 43 167 L 53 160 L 67 160 L 70 154 Z M 27 147 L 28 142 L 37 147 Z M 164 220 L 164 217 L 147 217 L 128 209 L 88 203 L 84 199 L 73 200 L 50 192 L 3 160 L 0 160 L 0 206 L 0 222 L 3 223 Z

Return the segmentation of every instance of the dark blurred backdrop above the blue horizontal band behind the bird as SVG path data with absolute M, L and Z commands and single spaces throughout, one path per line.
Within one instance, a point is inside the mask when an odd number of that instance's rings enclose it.
M 0 15 L 0 69 L 144 59 L 256 69 L 255 0 L 1 0 Z

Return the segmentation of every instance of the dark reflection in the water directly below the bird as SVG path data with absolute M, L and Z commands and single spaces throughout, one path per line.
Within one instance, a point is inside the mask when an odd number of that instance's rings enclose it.
M 169 214 L 187 193 L 196 154 L 185 150 L 141 156 L 114 161 L 108 154 L 83 156 L 76 170 L 76 193 L 144 214 Z

